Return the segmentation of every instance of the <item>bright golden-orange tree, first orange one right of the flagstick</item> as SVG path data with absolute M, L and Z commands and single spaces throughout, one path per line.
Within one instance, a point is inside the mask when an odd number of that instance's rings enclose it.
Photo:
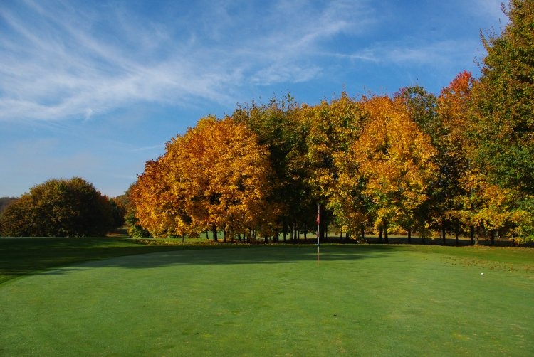
M 375 226 L 387 238 L 391 225 L 409 230 L 416 223 L 435 179 L 436 149 L 401 100 L 364 98 L 362 106 L 369 119 L 352 145 L 352 159 L 365 181 L 362 193 L 372 201 Z

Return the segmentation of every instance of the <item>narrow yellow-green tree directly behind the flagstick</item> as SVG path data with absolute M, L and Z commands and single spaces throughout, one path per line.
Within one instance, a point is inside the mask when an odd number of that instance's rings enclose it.
M 349 155 L 362 131 L 365 114 L 358 102 L 343 92 L 330 102 L 303 105 L 300 116 L 309 128 L 306 181 L 314 201 L 326 208 L 323 223 L 335 219 L 341 229 L 359 233 L 367 216 L 361 183 L 352 180 L 355 165 Z

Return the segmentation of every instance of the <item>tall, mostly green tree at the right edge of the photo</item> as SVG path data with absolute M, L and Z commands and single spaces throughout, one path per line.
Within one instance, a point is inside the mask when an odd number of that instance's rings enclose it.
M 534 1 L 511 0 L 510 22 L 482 36 L 487 55 L 473 101 L 473 161 L 488 184 L 507 193 L 511 232 L 534 238 Z

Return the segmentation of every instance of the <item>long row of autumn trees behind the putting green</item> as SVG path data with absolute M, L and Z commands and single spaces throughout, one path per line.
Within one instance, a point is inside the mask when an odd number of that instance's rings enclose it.
M 238 105 L 167 142 L 113 202 L 134 236 L 286 240 L 315 230 L 319 204 L 321 234 L 533 240 L 534 1 L 511 0 L 506 14 L 501 33 L 481 36 L 480 78 L 461 72 L 439 95 L 412 86 Z

